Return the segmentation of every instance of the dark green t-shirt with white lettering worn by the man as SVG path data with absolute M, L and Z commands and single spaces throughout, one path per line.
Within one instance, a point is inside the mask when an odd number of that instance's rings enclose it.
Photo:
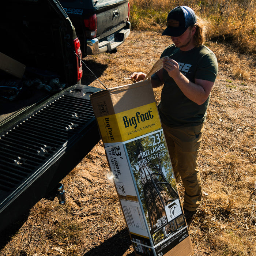
M 195 47 L 183 52 L 174 44 L 168 46 L 161 57 L 168 56 L 179 64 L 180 72 L 191 82 L 203 79 L 215 82 L 218 72 L 217 58 L 206 46 Z M 188 99 L 163 69 L 164 86 L 161 102 L 158 105 L 159 115 L 163 123 L 168 126 L 194 126 L 205 121 L 209 99 L 202 105 Z

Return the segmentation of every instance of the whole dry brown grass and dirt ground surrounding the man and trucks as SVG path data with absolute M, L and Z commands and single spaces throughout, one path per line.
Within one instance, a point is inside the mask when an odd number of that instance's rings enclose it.
M 132 31 L 116 54 L 84 58 L 105 84 L 147 73 L 166 46 L 166 17 L 181 1 L 130 0 Z M 180 4 L 181 5 L 181 4 Z M 206 45 L 217 81 L 199 155 L 203 200 L 189 226 L 196 256 L 256 255 L 256 11 L 254 1 L 182 1 L 208 20 Z M 83 67 L 83 83 L 102 88 Z M 161 88 L 154 89 L 159 101 Z M 102 142 L 63 180 L 67 204 L 42 199 L 15 232 L 0 236 L 0 256 L 134 255 Z M 178 190 L 183 196 L 181 182 Z M 17 209 L 18 210 L 18 209 Z

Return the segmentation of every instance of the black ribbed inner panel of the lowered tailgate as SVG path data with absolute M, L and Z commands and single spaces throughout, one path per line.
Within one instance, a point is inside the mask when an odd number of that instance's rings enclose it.
M 65 147 L 92 118 L 89 99 L 62 95 L 2 135 L 0 201 Z

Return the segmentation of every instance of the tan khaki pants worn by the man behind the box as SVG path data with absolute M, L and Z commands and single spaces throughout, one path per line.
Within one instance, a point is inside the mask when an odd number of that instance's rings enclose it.
M 162 123 L 165 139 L 178 182 L 185 188 L 183 207 L 195 211 L 202 199 L 202 181 L 197 157 L 202 141 L 204 124 L 192 127 L 169 127 Z

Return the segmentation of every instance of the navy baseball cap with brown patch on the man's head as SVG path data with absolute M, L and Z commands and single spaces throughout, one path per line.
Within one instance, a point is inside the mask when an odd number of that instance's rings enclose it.
M 179 37 L 196 23 L 195 12 L 188 6 L 177 6 L 167 16 L 167 28 L 162 35 Z

